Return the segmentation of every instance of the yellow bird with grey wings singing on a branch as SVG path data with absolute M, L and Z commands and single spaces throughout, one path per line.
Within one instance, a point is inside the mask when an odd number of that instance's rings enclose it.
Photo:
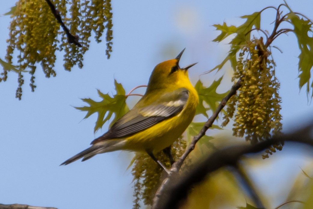
M 78 159 L 85 161 L 96 154 L 116 150 L 146 152 L 167 173 L 167 168 L 155 157 L 163 150 L 171 159 L 171 144 L 182 135 L 195 116 L 198 93 L 188 77 L 188 69 L 197 63 L 179 66 L 185 49 L 175 59 L 164 61 L 153 69 L 145 94 L 136 105 L 118 119 L 91 146 L 61 165 Z

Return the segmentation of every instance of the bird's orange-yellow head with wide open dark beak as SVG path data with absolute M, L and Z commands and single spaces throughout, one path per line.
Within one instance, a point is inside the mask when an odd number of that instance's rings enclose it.
M 147 91 L 175 86 L 180 88 L 186 85 L 186 82 L 190 83 L 187 70 L 197 63 L 180 68 L 179 60 L 184 50 L 175 59 L 167 60 L 156 65 L 151 73 Z

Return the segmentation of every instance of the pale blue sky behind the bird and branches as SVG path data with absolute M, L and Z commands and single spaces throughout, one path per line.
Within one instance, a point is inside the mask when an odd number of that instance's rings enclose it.
M 13 2 L 1 1 L 0 14 L 8 12 Z M 156 64 L 174 58 L 185 47 L 181 66 L 198 62 L 190 70 L 195 83 L 203 72 L 219 64 L 228 50 L 226 43 L 212 42 L 218 35 L 213 24 L 223 21 L 240 24 L 242 20 L 238 17 L 280 3 L 283 1 L 112 1 L 114 44 L 110 60 L 105 56 L 105 44 L 92 40 L 83 69 L 74 67 L 68 72 L 63 69 L 63 54 L 59 53 L 57 76 L 44 78 L 38 66 L 35 75 L 38 87 L 34 93 L 30 92 L 29 77 L 25 76 L 21 101 L 15 98 L 17 76 L 8 75 L 8 81 L 0 83 L 0 203 L 59 209 L 131 208 L 132 176 L 126 170 L 131 159 L 128 152 L 101 154 L 83 163 L 59 166 L 107 130 L 105 124 L 94 134 L 96 115 L 82 120 L 85 113 L 72 106 L 84 105 L 80 98 L 97 99 L 96 89 L 114 92 L 114 78 L 123 84 L 126 92 L 146 84 Z M 313 19 L 312 1 L 288 3 L 294 11 Z M 265 26 L 272 22 L 275 13 L 269 10 L 263 16 Z M 10 19 L 3 16 L 0 21 L 0 58 L 3 59 Z M 271 27 L 265 28 L 271 31 Z M 312 116 L 312 104 L 308 104 L 305 91 L 298 89 L 299 49 L 295 36 L 283 35 L 274 45 L 284 52 L 280 54 L 276 50 L 273 56 L 281 83 L 284 131 L 290 131 Z M 209 85 L 218 75 L 206 74 L 200 79 Z M 223 84 L 229 86 L 229 80 L 223 79 Z M 128 102 L 135 101 L 134 97 Z M 291 150 L 295 151 L 288 152 Z M 301 153 L 295 154 L 297 151 Z M 271 190 L 277 185 L 266 182 L 275 177 L 285 184 L 300 172 L 299 166 L 308 162 L 305 156 L 303 149 L 287 144 L 271 161 L 251 168 L 251 172 L 267 169 L 265 176 L 253 174 L 255 181 L 279 196 L 280 191 Z M 284 178 L 286 173 L 290 177 Z M 281 196 L 273 200 L 272 206 L 284 201 L 284 195 Z

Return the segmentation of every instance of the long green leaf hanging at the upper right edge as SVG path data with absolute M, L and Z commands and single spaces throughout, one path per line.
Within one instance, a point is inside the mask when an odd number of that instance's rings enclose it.
M 299 55 L 299 88 L 301 89 L 306 85 L 306 92 L 309 94 L 310 87 L 313 89 L 313 83 L 310 83 L 311 69 L 313 67 L 313 37 L 312 34 L 312 22 L 310 20 L 304 20 L 290 10 L 288 14 L 290 23 L 294 26 L 294 33 L 298 39 L 298 45 L 300 49 Z M 311 84 L 311 85 L 310 85 Z M 313 97 L 313 91 L 312 95 Z

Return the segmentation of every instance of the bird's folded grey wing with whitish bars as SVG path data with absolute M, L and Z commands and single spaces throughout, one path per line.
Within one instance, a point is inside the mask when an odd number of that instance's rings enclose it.
M 107 133 L 93 140 L 91 144 L 96 144 L 102 140 L 130 136 L 177 115 L 187 103 L 188 92 L 187 89 L 180 88 L 163 94 L 149 106 L 132 109 L 116 121 Z

